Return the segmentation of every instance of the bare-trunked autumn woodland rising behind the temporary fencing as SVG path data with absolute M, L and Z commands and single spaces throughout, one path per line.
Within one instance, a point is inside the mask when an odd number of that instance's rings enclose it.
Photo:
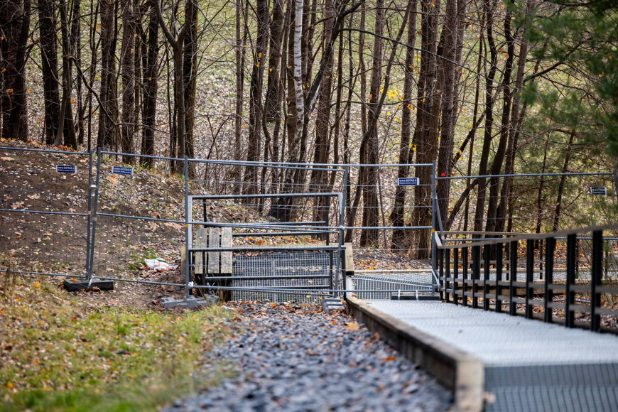
M 563 205 L 578 180 L 497 175 L 614 170 L 617 27 L 611 0 L 0 0 L 1 136 L 143 167 L 153 161 L 131 154 L 435 161 L 438 175 L 473 176 L 438 180 L 445 230 L 612 221 L 615 193 L 582 213 Z M 396 189 L 382 217 L 431 224 L 430 168 L 389 170 L 421 185 Z M 379 173 L 350 176 L 348 226 L 381 224 Z M 228 180 L 245 193 L 327 192 L 335 173 L 237 166 Z M 271 215 L 293 219 L 277 206 Z M 410 247 L 408 233 L 391 231 L 391 246 Z M 428 235 L 414 236 L 426 257 Z

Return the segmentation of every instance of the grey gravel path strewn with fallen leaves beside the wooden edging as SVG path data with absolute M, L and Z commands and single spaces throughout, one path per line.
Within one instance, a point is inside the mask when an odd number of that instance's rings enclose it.
M 246 329 L 215 347 L 211 362 L 229 360 L 238 376 L 164 411 L 448 411 L 452 405 L 450 391 L 341 311 L 268 302 L 232 309 Z

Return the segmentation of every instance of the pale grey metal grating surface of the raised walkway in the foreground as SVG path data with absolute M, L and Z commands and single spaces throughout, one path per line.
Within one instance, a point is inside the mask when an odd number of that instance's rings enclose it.
M 618 411 L 618 337 L 433 301 L 372 307 L 484 363 L 486 411 Z

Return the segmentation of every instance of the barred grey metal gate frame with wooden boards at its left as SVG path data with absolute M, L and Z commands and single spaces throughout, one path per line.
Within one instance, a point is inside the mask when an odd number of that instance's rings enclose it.
M 325 202 L 318 202 L 324 198 L 327 198 Z M 188 196 L 188 271 L 204 273 L 205 276 L 196 280 L 212 286 L 213 291 L 231 288 L 232 293 L 228 297 L 233 300 L 269 298 L 275 301 L 308 301 L 320 295 L 331 296 L 330 290 L 337 288 L 340 278 L 342 229 L 330 227 L 328 221 L 276 222 L 268 212 L 276 205 L 284 205 L 288 212 L 300 217 L 303 216 L 302 210 L 316 204 L 334 211 L 337 219 L 342 207 L 342 195 Z M 263 208 L 261 213 L 259 205 Z M 220 210 L 230 210 L 228 208 L 233 211 L 232 216 L 227 216 L 228 221 L 224 222 Z M 200 233 L 205 233 L 205 230 L 212 238 L 212 233 L 217 232 L 219 227 L 222 231 L 231 229 L 233 232 L 233 241 L 229 246 L 200 239 L 203 236 Z M 219 271 L 216 264 L 210 268 L 212 259 L 217 259 L 213 256 L 225 253 L 233 256 L 231 273 Z M 200 265 L 207 270 L 202 270 Z M 277 292 L 269 292 L 275 289 Z M 286 289 L 293 290 L 293 293 L 285 293 Z M 300 293 L 303 289 L 308 291 L 305 296 Z M 324 293 L 318 293 L 321 290 Z

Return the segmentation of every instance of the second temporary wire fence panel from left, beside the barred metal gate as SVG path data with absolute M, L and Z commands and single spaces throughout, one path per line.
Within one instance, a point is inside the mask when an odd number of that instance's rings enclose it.
M 127 156 L 134 161 L 133 166 L 120 163 L 129 160 Z M 159 156 L 99 151 L 90 276 L 168 286 L 185 284 L 177 271 L 141 271 L 146 259 L 163 259 L 172 267 L 180 264 L 185 242 L 185 179 L 165 173 L 170 170 L 170 161 L 180 162 L 180 166 L 185 163 Z M 163 195 L 163 190 L 180 195 Z

